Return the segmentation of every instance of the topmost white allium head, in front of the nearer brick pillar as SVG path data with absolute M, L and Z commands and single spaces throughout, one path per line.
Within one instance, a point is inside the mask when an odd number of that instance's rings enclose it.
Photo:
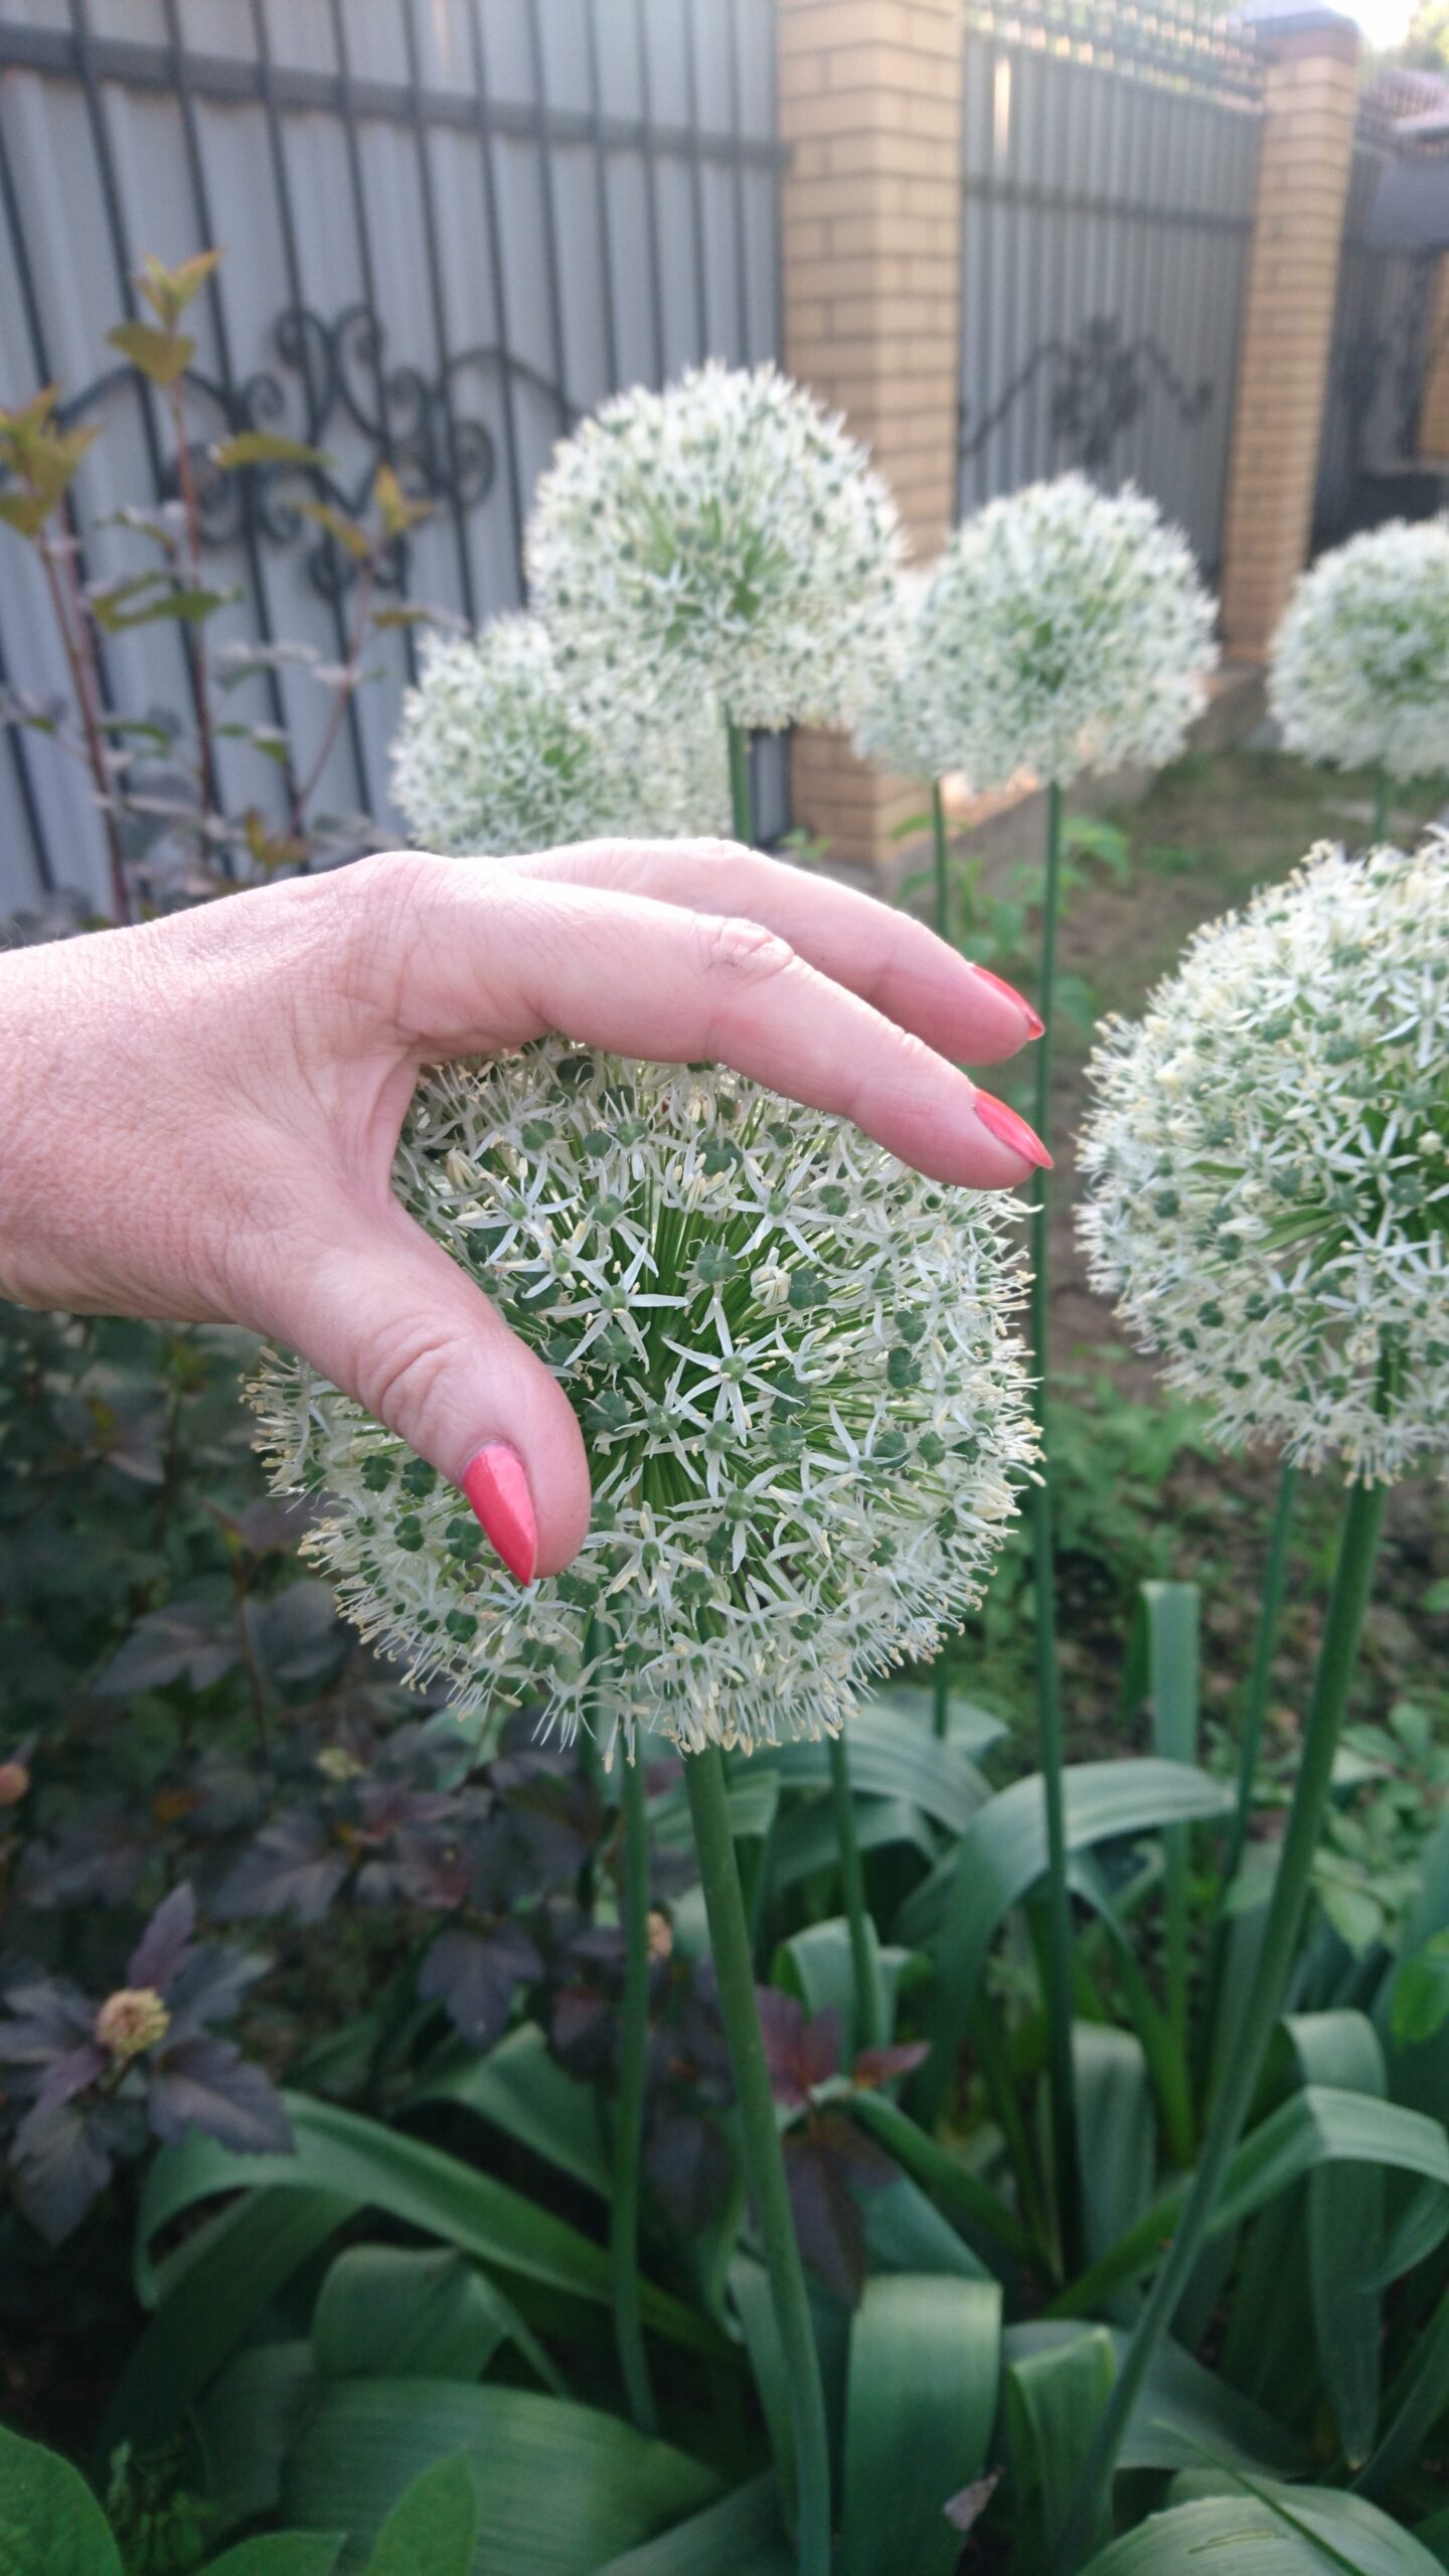
M 554 451 L 526 554 L 570 680 L 779 732 L 853 721 L 902 536 L 835 417 L 712 361 Z

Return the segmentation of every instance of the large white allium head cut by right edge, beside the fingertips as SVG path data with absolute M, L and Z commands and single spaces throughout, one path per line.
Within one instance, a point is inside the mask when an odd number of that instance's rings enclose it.
M 1449 842 L 1315 850 L 1109 1025 L 1080 1229 L 1214 1404 L 1369 1481 L 1449 1455 Z

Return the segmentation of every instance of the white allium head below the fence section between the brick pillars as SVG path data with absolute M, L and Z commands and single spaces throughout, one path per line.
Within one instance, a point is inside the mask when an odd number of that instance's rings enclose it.
M 977 510 L 926 580 L 908 688 L 933 770 L 977 791 L 1018 770 L 1176 760 L 1217 662 L 1214 603 L 1142 492 L 1083 474 Z

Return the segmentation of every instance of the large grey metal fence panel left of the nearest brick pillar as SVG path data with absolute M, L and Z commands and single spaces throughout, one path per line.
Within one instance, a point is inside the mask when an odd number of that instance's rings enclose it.
M 0 399 L 59 379 L 106 422 L 80 538 L 90 574 L 126 569 L 137 538 L 108 518 L 165 497 L 175 466 L 152 394 L 103 363 L 106 330 L 134 312 L 144 250 L 224 245 L 193 307 L 193 435 L 322 446 L 345 505 L 397 464 L 433 502 L 410 592 L 477 621 L 521 598 L 521 526 L 562 428 L 616 384 L 776 353 L 779 157 L 773 0 L 0 0 Z M 214 634 L 335 659 L 302 487 L 250 477 L 245 507 L 211 518 L 242 590 Z M 39 567 L 0 541 L 0 683 L 67 696 Z M 183 703 L 175 629 L 121 634 L 108 662 L 124 708 Z M 410 667 L 410 634 L 387 636 L 322 781 L 335 809 L 387 819 Z M 266 685 L 258 716 L 307 762 L 325 693 L 286 667 Z M 250 755 L 222 757 L 242 806 Z M 776 806 L 781 778 L 779 760 Z M 85 778 L 10 732 L 0 909 L 103 884 Z

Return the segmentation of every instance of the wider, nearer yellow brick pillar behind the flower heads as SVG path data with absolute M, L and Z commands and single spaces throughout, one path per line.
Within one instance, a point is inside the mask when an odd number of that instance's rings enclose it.
M 918 556 L 957 518 L 962 309 L 959 0 L 779 0 L 784 366 L 841 410 Z M 794 819 L 879 866 L 920 788 L 799 734 Z

